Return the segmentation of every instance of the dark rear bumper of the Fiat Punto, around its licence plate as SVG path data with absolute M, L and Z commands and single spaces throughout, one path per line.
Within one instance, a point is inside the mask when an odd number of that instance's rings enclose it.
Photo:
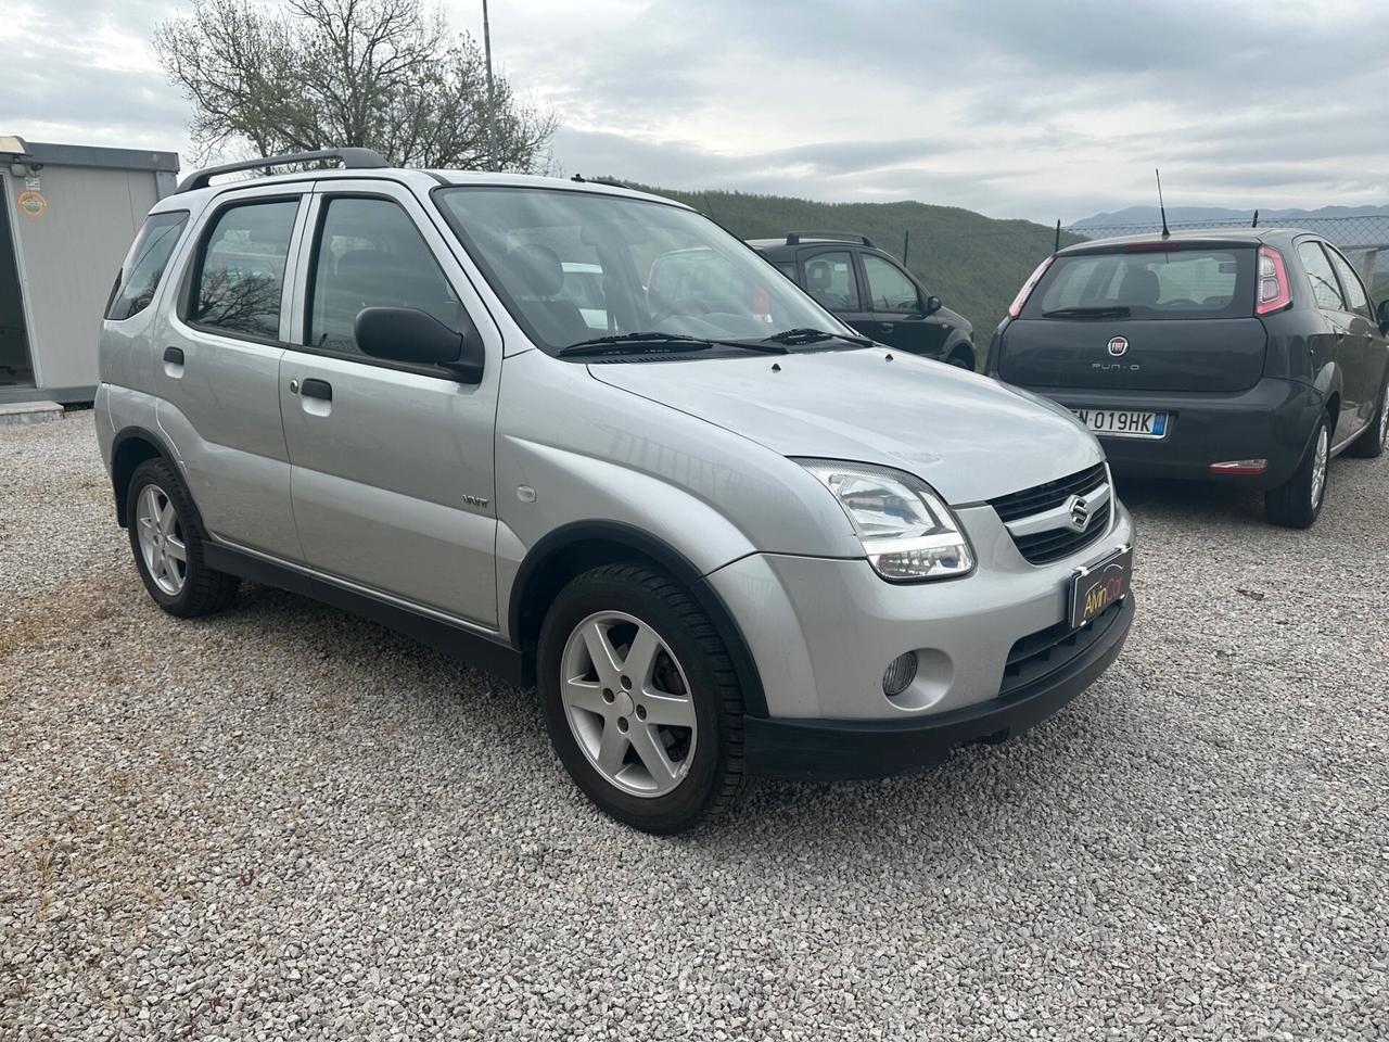
M 1292 477 L 1322 410 L 1321 396 L 1311 386 L 1274 378 L 1238 393 L 1035 390 L 1068 408 L 1168 414 L 1168 433 L 1161 439 L 1100 436 L 1115 474 L 1238 482 L 1250 489 L 1276 488 Z M 1268 467 L 1254 475 L 1211 472 L 1213 463 L 1226 460 L 1268 460 Z

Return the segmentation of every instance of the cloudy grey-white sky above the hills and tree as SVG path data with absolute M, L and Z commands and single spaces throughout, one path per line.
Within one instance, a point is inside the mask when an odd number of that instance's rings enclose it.
M 1075 220 L 1389 203 L 1386 0 L 492 0 L 567 172 Z M 0 133 L 188 151 L 158 0 L 0 0 Z M 481 0 L 447 0 L 481 35 Z

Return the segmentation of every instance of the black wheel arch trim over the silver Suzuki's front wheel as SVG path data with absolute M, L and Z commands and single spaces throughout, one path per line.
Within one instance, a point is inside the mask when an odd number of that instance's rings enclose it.
M 526 657 L 533 656 L 533 647 L 528 646 L 528 622 L 533 615 L 533 609 L 539 607 L 532 602 L 544 589 L 544 575 L 549 567 L 567 550 L 583 545 L 624 547 L 665 568 L 678 579 L 689 590 L 694 603 L 708 614 L 724 640 L 733 663 L 733 671 L 738 674 L 739 686 L 743 689 L 743 707 L 747 716 L 768 716 L 767 693 L 763 690 L 756 660 L 724 599 L 706 582 L 704 575 L 685 554 L 650 532 L 621 521 L 572 521 L 546 534 L 526 552 L 511 584 L 507 606 L 507 632 L 518 650 Z M 535 629 L 536 627 L 529 628 Z

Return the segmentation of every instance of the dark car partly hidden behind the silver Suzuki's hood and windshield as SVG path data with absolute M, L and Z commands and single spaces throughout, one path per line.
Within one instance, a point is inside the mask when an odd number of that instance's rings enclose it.
M 975 367 L 974 326 L 901 264 L 851 232 L 792 232 L 747 245 L 825 308 L 897 350 L 965 370 Z

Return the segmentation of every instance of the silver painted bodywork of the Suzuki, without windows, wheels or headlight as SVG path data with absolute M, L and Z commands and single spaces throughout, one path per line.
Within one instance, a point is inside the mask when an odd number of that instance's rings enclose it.
M 192 220 L 154 303 L 106 322 L 96 407 L 107 465 L 121 432 L 157 432 L 214 539 L 503 639 L 515 638 L 517 577 L 547 535 L 593 521 L 640 529 L 707 577 L 772 716 L 788 717 L 890 720 L 996 697 L 1013 643 L 1065 617 L 1074 571 L 1132 540 L 1117 504 L 1101 540 L 1025 561 L 983 500 L 1103 453 L 1061 407 L 960 370 L 879 349 L 650 364 L 536 350 L 436 211 L 440 178 L 640 195 L 521 175 L 335 171 L 161 200 L 156 211 Z M 338 190 L 386 195 L 415 218 L 485 340 L 481 385 L 304 347 L 311 229 L 318 199 Z M 175 296 L 217 207 L 296 193 L 279 342 L 182 322 Z M 185 352 L 181 372 L 165 346 Z M 332 383 L 325 414 L 289 390 L 307 378 Z M 957 507 L 978 567 L 885 582 L 833 496 L 790 457 L 918 475 Z M 883 670 L 914 649 L 917 681 L 888 700 Z

